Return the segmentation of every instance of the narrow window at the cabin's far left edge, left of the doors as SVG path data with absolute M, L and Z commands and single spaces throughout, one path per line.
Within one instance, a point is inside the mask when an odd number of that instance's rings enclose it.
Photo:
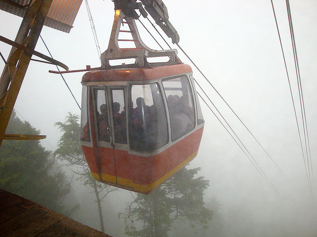
M 87 86 L 83 85 L 82 100 L 81 100 L 81 121 L 80 121 L 80 140 L 90 142 L 90 132 L 88 124 L 88 109 L 87 109 Z

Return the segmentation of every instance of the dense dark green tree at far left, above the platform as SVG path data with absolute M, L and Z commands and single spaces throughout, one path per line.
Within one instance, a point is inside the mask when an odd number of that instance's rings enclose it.
M 6 133 L 39 135 L 40 130 L 21 121 L 13 111 Z M 50 154 L 39 140 L 4 140 L 0 149 L 0 188 L 70 215 L 71 210 L 61 204 L 69 193 L 69 182 Z

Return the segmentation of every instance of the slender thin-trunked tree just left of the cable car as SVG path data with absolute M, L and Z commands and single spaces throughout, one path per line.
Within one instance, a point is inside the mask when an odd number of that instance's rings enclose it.
M 106 197 L 106 195 L 118 188 L 97 182 L 91 175 L 79 143 L 80 124 L 78 123 L 78 120 L 78 115 L 68 113 L 68 116 L 65 118 L 65 122 L 55 123 L 55 125 L 59 127 L 60 131 L 63 132 L 63 135 L 59 139 L 58 148 L 53 153 L 53 156 L 63 161 L 64 166 L 67 166 L 72 172 L 77 174 L 77 179 L 83 182 L 85 186 L 89 186 L 94 189 L 99 211 L 100 227 L 101 231 L 105 233 L 101 201 Z M 104 193 L 104 196 L 101 196 L 101 193 Z

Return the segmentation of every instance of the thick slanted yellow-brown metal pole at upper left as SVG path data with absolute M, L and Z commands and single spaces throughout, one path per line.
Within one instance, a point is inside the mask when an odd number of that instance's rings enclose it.
M 27 9 L 17 39 L 34 50 L 53 0 L 35 0 Z M 32 54 L 12 49 L 0 78 L 0 145 Z

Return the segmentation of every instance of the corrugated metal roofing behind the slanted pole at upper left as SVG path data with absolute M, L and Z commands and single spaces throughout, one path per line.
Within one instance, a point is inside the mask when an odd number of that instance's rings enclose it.
M 11 0 L 19 5 L 26 6 L 31 0 Z M 34 0 L 32 0 L 33 2 Z M 79 7 L 83 0 L 53 0 L 44 25 L 56 30 L 69 33 Z M 24 16 L 25 9 L 0 0 L 0 9 L 17 16 Z

